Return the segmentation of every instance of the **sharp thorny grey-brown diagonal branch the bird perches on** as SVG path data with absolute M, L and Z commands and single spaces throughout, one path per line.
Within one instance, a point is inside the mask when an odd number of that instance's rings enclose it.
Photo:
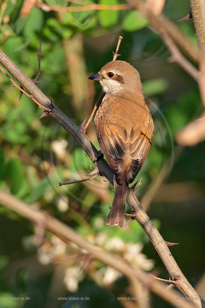
M 88 137 L 82 132 L 81 128 L 74 124 L 57 106 L 52 104 L 50 100 L 45 96 L 45 94 L 42 93 L 41 90 L 34 84 L 34 82 L 29 77 L 27 77 L 2 50 L 0 50 L 0 63 L 2 63 L 6 70 L 10 72 L 10 74 L 21 84 L 21 86 L 26 91 L 29 92 L 30 95 L 32 95 L 32 97 L 34 97 L 34 99 L 36 99 L 42 106 L 48 109 L 48 111 L 45 112 L 49 114 L 55 121 L 57 121 L 63 128 L 65 128 L 65 130 L 77 140 L 77 142 L 81 145 L 90 159 L 94 161 L 97 157 L 98 151 L 88 139 Z M 100 159 L 95 162 L 95 164 L 98 167 L 100 174 L 105 176 L 110 181 L 110 183 L 113 184 L 113 172 L 105 160 Z M 166 269 L 168 270 L 171 279 L 176 280 L 175 285 L 190 300 L 190 302 L 195 305 L 195 307 L 205 308 L 205 303 L 181 272 L 164 239 L 155 228 L 148 215 L 145 213 L 135 195 L 135 192 L 131 189 L 128 191 L 127 202 L 131 211 L 133 212 L 133 218 L 136 219 L 136 221 L 141 225 L 141 227 L 150 238 L 157 253 L 159 254 Z M 64 229 L 63 226 L 59 225 L 61 224 L 60 222 L 56 223 L 60 229 Z

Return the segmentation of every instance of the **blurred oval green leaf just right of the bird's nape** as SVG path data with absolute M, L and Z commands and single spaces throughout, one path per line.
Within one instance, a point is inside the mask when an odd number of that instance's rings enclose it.
M 142 83 L 144 95 L 157 95 L 167 90 L 169 83 L 166 79 L 155 78 Z

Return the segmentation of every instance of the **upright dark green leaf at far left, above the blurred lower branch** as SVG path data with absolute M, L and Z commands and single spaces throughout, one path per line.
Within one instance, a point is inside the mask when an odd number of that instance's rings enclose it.
M 11 193 L 18 193 L 24 182 L 22 163 L 15 158 L 11 159 L 6 165 L 5 174 L 11 182 Z

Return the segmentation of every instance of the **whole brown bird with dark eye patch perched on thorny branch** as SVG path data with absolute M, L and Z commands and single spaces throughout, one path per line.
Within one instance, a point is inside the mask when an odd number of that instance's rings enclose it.
M 97 139 L 114 172 L 114 197 L 106 225 L 124 227 L 126 197 L 152 146 L 154 124 L 140 74 L 125 61 L 111 61 L 89 76 L 105 92 L 95 116 Z

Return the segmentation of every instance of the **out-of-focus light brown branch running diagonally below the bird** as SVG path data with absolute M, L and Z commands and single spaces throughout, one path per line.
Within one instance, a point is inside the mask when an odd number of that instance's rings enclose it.
M 125 277 L 128 277 L 128 279 L 136 277 L 142 285 L 148 286 L 152 292 L 162 297 L 165 301 L 171 303 L 171 305 L 177 308 L 193 308 L 188 301 L 177 300 L 176 298 L 179 297 L 179 293 L 175 290 L 170 290 L 169 292 L 166 291 L 166 284 L 164 282 L 152 279 L 143 270 L 129 265 L 122 258 L 113 256 L 104 249 L 99 249 L 99 247 L 90 244 L 90 242 L 86 241 L 71 227 L 65 225 L 56 218 L 51 217 L 44 211 L 34 209 L 30 205 L 27 205 L 23 201 L 18 200 L 11 194 L 8 194 L 2 190 L 0 190 L 0 203 L 7 209 L 17 212 L 26 217 L 26 219 L 33 221 L 34 224 L 36 224 L 36 222 L 38 224 L 41 223 L 46 230 L 57 235 L 66 243 L 68 243 L 68 241 L 74 243 L 79 248 L 87 251 L 87 253 L 94 259 L 97 259 L 106 265 L 112 266 L 114 269 L 124 274 Z M 66 260 L 62 261 L 75 262 L 79 259 L 79 257 L 81 258 L 83 256 L 73 255 L 69 257 L 70 260 L 66 258 Z

